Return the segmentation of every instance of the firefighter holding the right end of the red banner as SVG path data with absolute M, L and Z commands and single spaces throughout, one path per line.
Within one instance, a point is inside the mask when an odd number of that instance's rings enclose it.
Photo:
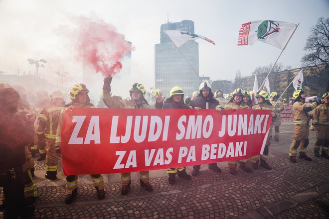
M 268 161 L 268 155 L 269 155 L 269 146 L 271 145 L 272 141 L 272 127 L 274 125 L 274 122 L 278 120 L 278 112 L 273 108 L 272 104 L 269 101 L 269 94 L 266 91 L 259 91 L 255 97 L 258 101 L 258 104 L 255 104 L 252 109 L 271 109 L 271 115 L 272 115 L 272 122 L 271 127 L 269 130 L 269 134 L 267 136 L 267 140 L 265 143 L 265 148 L 263 151 L 263 154 L 260 155 L 260 166 L 264 167 L 265 169 L 272 170 L 272 167 L 267 163 Z M 259 155 L 253 156 L 251 158 L 252 161 L 252 168 L 257 170 L 258 169 L 258 163 L 259 163 Z

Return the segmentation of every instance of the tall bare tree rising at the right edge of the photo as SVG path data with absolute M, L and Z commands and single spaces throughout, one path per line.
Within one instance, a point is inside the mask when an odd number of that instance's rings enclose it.
M 311 34 L 304 47 L 306 54 L 302 57 L 305 65 L 315 66 L 319 80 L 312 80 L 319 93 L 329 90 L 329 18 L 320 17 L 318 23 L 311 28 Z M 311 86 L 311 83 L 309 83 Z

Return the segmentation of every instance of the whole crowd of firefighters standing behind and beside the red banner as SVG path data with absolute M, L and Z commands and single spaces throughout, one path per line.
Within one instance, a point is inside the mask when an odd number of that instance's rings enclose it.
M 274 126 L 275 141 L 280 139 L 280 112 L 287 106 L 285 99 L 279 100 L 279 94 L 266 91 L 258 91 L 256 94 L 235 89 L 226 95 L 222 90 L 214 93 L 208 82 L 202 82 L 199 90 L 193 92 L 191 97 L 184 97 L 183 90 L 175 86 L 170 90 L 169 97 L 165 98 L 159 89 L 152 92 L 155 103 L 151 107 L 145 98 L 146 89 L 143 84 L 132 85 L 129 99 L 114 96 L 111 90 L 112 77 L 104 79 L 101 99 L 105 107 L 114 109 L 254 109 L 271 110 L 272 122 L 267 137 L 265 149 L 262 155 L 253 156 L 243 160 L 229 161 L 229 172 L 236 174 L 236 166 L 247 173 L 252 173 L 260 167 L 271 170 L 268 163 L 269 146 L 272 141 L 272 127 Z M 2 187 L 2 204 L 4 218 L 26 218 L 33 212 L 34 200 L 37 198 L 37 187 L 33 181 L 34 159 L 45 160 L 45 178 L 57 179 L 58 158 L 61 155 L 61 128 L 65 110 L 72 108 L 95 108 L 88 96 L 89 90 L 84 84 L 73 85 L 68 94 L 70 103 L 65 105 L 63 93 L 59 90 L 50 95 L 44 89 L 37 89 L 33 106 L 26 98 L 26 92 L 21 85 L 9 85 L 0 82 L 0 187 Z M 290 161 L 296 163 L 297 150 L 299 158 L 312 161 L 307 155 L 309 144 L 310 125 L 316 130 L 314 154 L 329 159 L 329 92 L 321 98 L 306 105 L 306 94 L 303 90 L 297 90 L 293 94 L 294 135 L 289 148 Z M 257 104 L 255 104 L 257 100 Z M 312 113 L 309 113 L 311 112 Z M 313 115 L 313 121 L 311 118 Z M 64 158 L 65 159 L 65 158 Z M 208 164 L 208 168 L 216 173 L 221 173 L 217 163 Z M 200 165 L 193 166 L 191 175 L 199 175 Z M 169 168 L 168 183 L 175 183 L 175 176 L 191 180 L 192 177 L 186 172 L 186 167 Z M 105 198 L 104 179 L 101 173 L 90 175 L 95 186 L 98 199 Z M 149 171 L 139 172 L 140 185 L 146 191 L 152 192 Z M 121 194 L 127 195 L 131 186 L 131 173 L 121 173 Z M 70 204 L 78 195 L 78 176 L 66 176 L 65 203 Z M 29 207 L 30 206 L 30 207 Z

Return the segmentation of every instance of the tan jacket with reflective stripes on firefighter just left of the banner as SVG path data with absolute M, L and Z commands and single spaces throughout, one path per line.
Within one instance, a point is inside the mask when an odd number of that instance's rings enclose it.
M 45 147 L 45 138 L 55 143 L 58 118 L 63 109 L 64 107 L 55 107 L 49 104 L 41 111 L 36 130 L 38 146 Z

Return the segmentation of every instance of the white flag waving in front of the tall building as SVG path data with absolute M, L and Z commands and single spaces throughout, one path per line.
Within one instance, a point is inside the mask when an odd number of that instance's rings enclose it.
M 182 30 L 164 30 L 164 33 L 168 35 L 169 39 L 175 45 L 176 48 L 183 45 L 189 40 L 195 40 L 198 38 L 201 38 L 215 45 L 214 41 L 212 41 L 211 39 L 195 33 L 190 33 Z

